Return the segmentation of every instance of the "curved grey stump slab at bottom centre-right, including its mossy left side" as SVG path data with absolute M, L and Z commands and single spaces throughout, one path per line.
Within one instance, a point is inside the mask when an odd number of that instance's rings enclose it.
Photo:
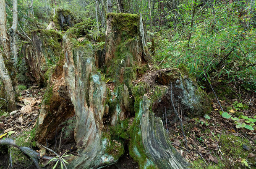
M 150 101 L 146 96 L 140 103 L 133 126 L 130 129 L 130 155 L 141 169 L 184 169 L 188 163 L 166 138 L 160 118 L 149 110 Z

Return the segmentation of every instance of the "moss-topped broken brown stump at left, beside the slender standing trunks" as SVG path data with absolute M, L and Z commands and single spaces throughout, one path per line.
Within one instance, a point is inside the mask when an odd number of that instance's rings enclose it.
M 28 72 L 32 82 L 45 84 L 49 68 L 57 64 L 62 52 L 62 35 L 55 30 L 33 30 L 32 44 L 22 46 Z

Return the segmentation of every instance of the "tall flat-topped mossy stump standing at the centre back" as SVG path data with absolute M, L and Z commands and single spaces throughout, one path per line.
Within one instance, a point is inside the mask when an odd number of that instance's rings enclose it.
M 145 43 L 145 30 L 138 14 L 110 13 L 107 30 L 104 64 L 107 76 L 117 84 L 125 84 L 131 90 L 136 78 L 136 67 L 150 61 Z

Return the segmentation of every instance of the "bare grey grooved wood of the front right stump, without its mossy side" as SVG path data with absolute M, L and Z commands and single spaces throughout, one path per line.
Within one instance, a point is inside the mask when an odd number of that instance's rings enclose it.
M 140 112 L 141 138 L 146 154 L 159 169 L 186 169 L 188 163 L 171 145 L 165 136 L 165 129 L 161 118 L 154 117 L 149 111 L 150 101 L 143 96 Z

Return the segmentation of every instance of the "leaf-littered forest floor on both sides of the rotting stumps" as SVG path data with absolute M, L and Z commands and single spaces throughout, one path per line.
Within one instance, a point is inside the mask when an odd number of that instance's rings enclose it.
M 18 111 L 10 114 L 4 113 L 1 116 L 0 133 L 15 131 L 13 136 L 19 136 L 21 133 L 31 131 L 36 125 L 44 91 L 45 88 L 37 86 L 21 91 L 20 102 L 17 103 L 20 108 Z M 256 133 L 245 128 L 236 128 L 232 119 L 223 118 L 219 113 L 221 108 L 213 92 L 210 91 L 208 94 L 212 98 L 212 112 L 209 116 L 193 119 L 181 116 L 187 146 L 180 122 L 168 119 L 167 133 L 170 135 L 170 141 L 180 154 L 193 164 L 193 168 L 255 166 L 253 163 L 256 161 Z M 231 93 L 225 93 L 225 90 L 219 88 L 217 95 L 220 96 L 219 101 L 224 111 L 233 117 L 241 117 L 241 115 L 255 117 L 256 93 L 246 90 L 239 92 L 235 88 Z M 239 104 L 240 102 L 242 104 Z M 245 121 L 246 119 L 239 119 L 239 122 Z M 63 152 L 67 150 L 61 149 Z M 138 164 L 128 154 L 128 149 L 126 149 L 117 164 L 107 166 L 105 169 L 138 169 Z M 54 156 L 53 154 L 47 155 Z

